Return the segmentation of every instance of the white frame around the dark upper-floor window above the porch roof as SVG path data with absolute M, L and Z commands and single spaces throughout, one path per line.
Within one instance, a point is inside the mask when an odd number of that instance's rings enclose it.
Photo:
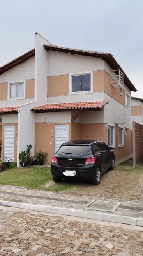
M 82 74 L 90 74 L 90 91 L 81 91 L 81 92 L 73 92 L 72 93 L 72 76 L 78 76 Z M 85 94 L 85 93 L 93 93 L 93 71 L 85 71 L 78 73 L 69 74 L 69 95 L 71 94 Z

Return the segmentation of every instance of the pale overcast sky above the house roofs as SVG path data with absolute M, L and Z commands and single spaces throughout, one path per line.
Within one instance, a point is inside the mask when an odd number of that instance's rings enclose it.
M 0 0 L 0 66 L 51 44 L 112 53 L 143 98 L 143 0 Z

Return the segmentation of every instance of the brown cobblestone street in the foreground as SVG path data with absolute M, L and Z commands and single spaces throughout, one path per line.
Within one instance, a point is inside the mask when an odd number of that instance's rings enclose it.
M 126 227 L 0 210 L 0 256 L 143 255 L 143 232 Z

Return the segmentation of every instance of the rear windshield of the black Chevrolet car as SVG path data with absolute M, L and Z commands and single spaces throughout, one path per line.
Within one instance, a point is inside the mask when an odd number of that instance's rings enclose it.
M 59 152 L 62 154 L 68 154 L 68 155 L 80 155 L 80 154 L 85 154 L 89 152 L 91 149 L 90 146 L 72 146 L 72 145 L 63 145 L 60 147 Z

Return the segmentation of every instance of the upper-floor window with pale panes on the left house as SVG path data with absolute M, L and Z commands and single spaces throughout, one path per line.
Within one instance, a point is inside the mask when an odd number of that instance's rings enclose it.
M 9 84 L 9 99 L 24 98 L 24 82 Z

